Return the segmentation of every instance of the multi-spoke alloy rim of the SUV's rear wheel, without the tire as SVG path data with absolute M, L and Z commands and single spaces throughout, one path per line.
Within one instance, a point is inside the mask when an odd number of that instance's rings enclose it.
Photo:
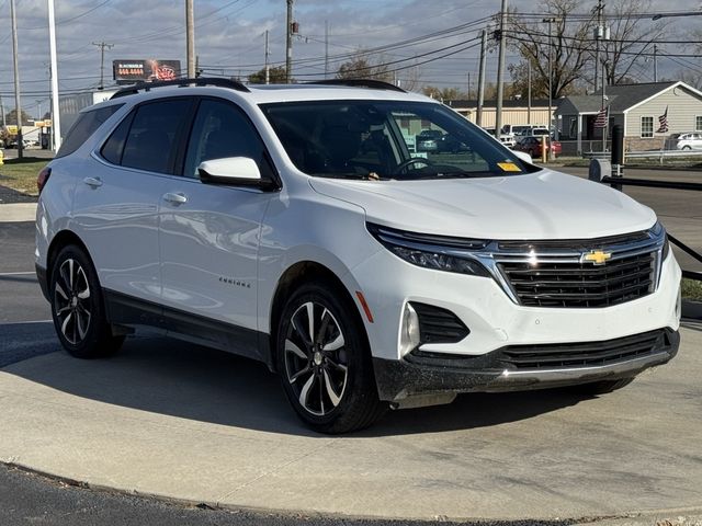
M 78 345 L 90 328 L 90 285 L 86 271 L 73 259 L 58 268 L 54 287 L 54 311 L 61 334 L 71 345 Z

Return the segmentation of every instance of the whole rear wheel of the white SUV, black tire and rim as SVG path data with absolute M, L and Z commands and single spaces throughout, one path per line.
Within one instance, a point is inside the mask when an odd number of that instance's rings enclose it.
M 52 317 L 64 348 L 78 358 L 116 353 L 124 336 L 112 334 L 90 258 L 81 248 L 69 244 L 58 253 L 50 271 Z

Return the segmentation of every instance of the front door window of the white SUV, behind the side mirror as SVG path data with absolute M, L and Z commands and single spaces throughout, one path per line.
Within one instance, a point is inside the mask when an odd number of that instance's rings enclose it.
M 203 100 L 193 123 L 183 174 L 197 178 L 202 161 L 225 157 L 253 159 L 261 175 L 272 176 L 263 141 L 247 116 L 231 103 Z

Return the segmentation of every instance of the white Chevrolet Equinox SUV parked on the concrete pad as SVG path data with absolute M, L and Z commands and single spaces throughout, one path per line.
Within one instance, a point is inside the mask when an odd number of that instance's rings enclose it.
M 387 84 L 171 84 L 84 110 L 39 174 L 69 353 L 156 327 L 262 361 L 326 433 L 457 392 L 605 392 L 676 354 L 680 268 L 626 195 Z M 412 157 L 427 127 L 461 147 Z

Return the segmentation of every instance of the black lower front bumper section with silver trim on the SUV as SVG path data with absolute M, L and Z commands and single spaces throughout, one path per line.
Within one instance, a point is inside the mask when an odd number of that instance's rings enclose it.
M 647 335 L 648 346 L 642 343 Z M 441 403 L 458 392 L 522 391 L 631 378 L 670 361 L 679 345 L 678 331 L 661 329 L 604 342 L 508 346 L 478 356 L 410 353 L 398 361 L 374 358 L 373 365 L 380 398 L 403 407 L 416 405 L 415 398 Z M 520 347 L 526 352 L 516 351 Z M 618 354 L 618 348 L 630 352 Z M 578 350 L 589 350 L 588 356 Z M 534 357 L 539 353 L 546 356 L 542 362 Z M 528 356 L 526 362 L 518 358 L 522 364 L 516 365 L 514 355 Z M 530 366 L 529 356 L 537 367 Z

